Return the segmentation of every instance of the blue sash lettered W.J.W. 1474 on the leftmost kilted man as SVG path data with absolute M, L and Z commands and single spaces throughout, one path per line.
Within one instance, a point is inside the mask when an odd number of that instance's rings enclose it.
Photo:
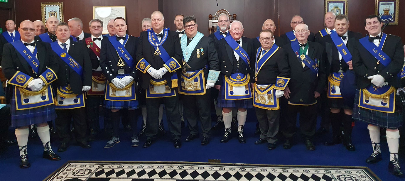
M 28 64 L 30 64 L 32 70 L 36 72 L 38 72 L 39 70 L 39 60 L 36 59 L 36 54 L 37 54 L 37 50 L 36 50 L 36 46 L 34 48 L 34 52 L 31 53 L 31 51 L 21 42 L 21 40 L 12 42 L 11 45 L 13 45 L 13 47 L 18 51 L 18 53 L 20 53 L 24 59 L 28 62 Z

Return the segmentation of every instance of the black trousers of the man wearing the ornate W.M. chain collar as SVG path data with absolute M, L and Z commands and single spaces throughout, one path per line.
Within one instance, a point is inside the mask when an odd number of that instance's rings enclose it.
M 166 118 L 173 139 L 181 138 L 181 120 L 179 112 L 179 97 L 146 98 L 146 133 L 147 140 L 156 140 L 159 133 L 159 107 L 162 102 L 166 109 Z M 195 116 L 195 115 L 194 115 Z

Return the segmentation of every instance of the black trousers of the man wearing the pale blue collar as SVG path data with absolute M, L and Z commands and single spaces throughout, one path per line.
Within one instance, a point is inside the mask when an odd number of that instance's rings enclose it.
M 207 89 L 204 95 L 183 95 L 184 114 L 187 117 L 190 134 L 198 135 L 198 122 L 201 121 L 203 136 L 211 135 L 211 91 Z

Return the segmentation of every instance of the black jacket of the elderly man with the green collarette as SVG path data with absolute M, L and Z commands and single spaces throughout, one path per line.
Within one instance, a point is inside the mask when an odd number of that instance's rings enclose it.
M 288 57 L 288 64 L 290 66 L 290 82 L 288 87 L 290 88 L 291 102 L 298 103 L 302 100 L 303 104 L 311 104 L 315 102 L 315 91 L 322 93 L 325 83 L 325 59 L 326 53 L 324 47 L 316 42 L 308 41 L 308 55 L 312 60 L 319 60 L 318 76 L 315 75 L 308 66 L 303 67 L 301 58 L 298 58 L 291 48 L 291 44 L 287 44 L 283 47 Z

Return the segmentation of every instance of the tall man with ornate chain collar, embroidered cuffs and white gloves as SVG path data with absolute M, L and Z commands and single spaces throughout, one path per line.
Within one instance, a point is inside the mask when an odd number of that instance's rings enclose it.
M 136 52 L 136 68 L 141 74 L 141 86 L 146 89 L 147 140 L 149 147 L 158 135 L 159 105 L 164 103 L 167 123 L 173 136 L 174 147 L 181 147 L 181 121 L 177 96 L 177 72 L 182 59 L 179 36 L 164 28 L 164 17 L 160 11 L 151 14 L 152 29 L 141 32 Z M 150 38 L 148 38 L 150 37 Z

